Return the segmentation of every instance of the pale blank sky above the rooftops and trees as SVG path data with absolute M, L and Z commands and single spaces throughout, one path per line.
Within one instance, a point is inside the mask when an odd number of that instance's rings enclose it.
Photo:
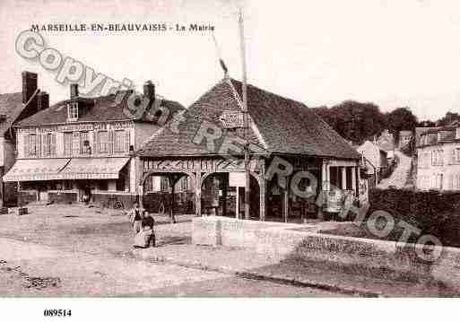
M 21 72 L 39 74 L 51 103 L 68 83 L 37 60 L 20 57 L 15 41 L 32 23 L 189 23 L 209 31 L 46 31 L 46 46 L 115 80 L 147 80 L 186 107 L 223 77 L 241 79 L 239 7 L 245 16 L 247 79 L 305 103 L 372 101 L 382 111 L 409 107 L 436 120 L 460 107 L 460 3 L 435 0 L 0 0 L 0 93 L 21 91 Z M 221 55 L 219 54 L 221 53 Z

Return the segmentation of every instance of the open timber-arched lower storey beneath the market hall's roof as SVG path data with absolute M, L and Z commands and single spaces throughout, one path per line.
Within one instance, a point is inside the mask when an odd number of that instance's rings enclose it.
M 286 170 L 291 165 L 291 173 Z M 188 177 L 196 216 L 218 215 L 245 218 L 245 167 L 242 158 L 223 156 L 141 158 L 140 202 L 145 206 L 146 182 L 152 176 L 167 178 L 164 205 L 151 209 L 167 213 L 171 222 L 180 213 L 178 180 Z M 360 171 L 357 161 L 308 156 L 252 158 L 250 164 L 249 214 L 251 220 L 305 222 L 323 220 L 338 213 L 344 196 L 358 197 Z M 318 198 L 321 196 L 321 198 Z M 161 209 L 161 207 L 163 207 Z

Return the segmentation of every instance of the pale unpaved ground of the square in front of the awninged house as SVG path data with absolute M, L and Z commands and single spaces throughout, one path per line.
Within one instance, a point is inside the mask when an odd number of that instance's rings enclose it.
M 161 248 L 187 246 L 191 223 L 158 219 Z M 343 296 L 247 280 L 231 274 L 152 263 L 133 256 L 120 213 L 77 206 L 30 207 L 0 216 L 0 296 Z

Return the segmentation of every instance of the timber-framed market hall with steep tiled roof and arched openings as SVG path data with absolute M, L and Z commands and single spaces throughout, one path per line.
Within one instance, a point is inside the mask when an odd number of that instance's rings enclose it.
M 196 215 L 245 218 L 248 197 L 250 218 L 282 222 L 337 212 L 343 195 L 367 199 L 360 154 L 314 112 L 298 101 L 248 85 L 245 131 L 229 126 L 242 112 L 241 95 L 242 84 L 225 77 L 187 109 L 177 126 L 165 126 L 153 135 L 136 152 L 143 189 L 150 178 L 167 177 L 174 197 L 176 183 L 187 177 Z M 324 204 L 317 207 L 319 196 Z M 171 205 L 173 217 L 174 200 Z

